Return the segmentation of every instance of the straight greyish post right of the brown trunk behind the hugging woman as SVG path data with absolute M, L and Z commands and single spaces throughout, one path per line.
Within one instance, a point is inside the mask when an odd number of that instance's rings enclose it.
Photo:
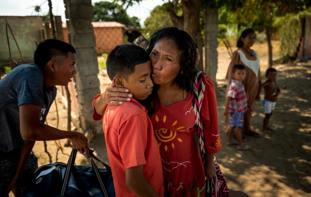
M 218 8 L 205 7 L 204 21 L 205 73 L 213 80 L 215 89 L 217 90 L 216 73 L 218 67 Z

